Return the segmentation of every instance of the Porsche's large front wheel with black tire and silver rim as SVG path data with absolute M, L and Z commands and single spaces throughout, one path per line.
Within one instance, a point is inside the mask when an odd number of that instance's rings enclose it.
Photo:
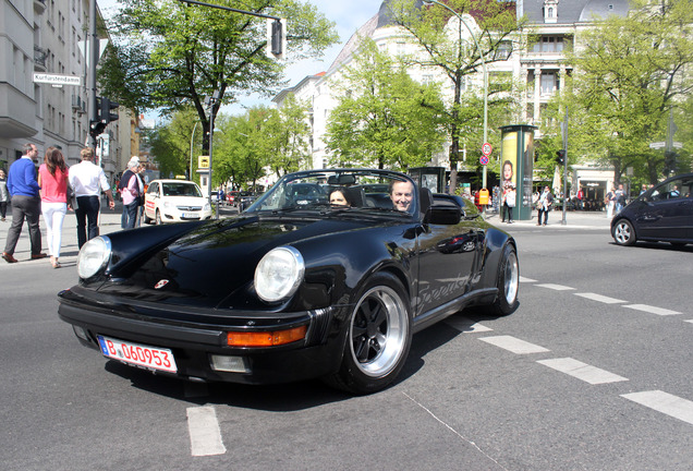
M 391 274 L 370 277 L 358 291 L 346 319 L 339 371 L 325 379 L 345 391 L 365 395 L 389 386 L 409 357 L 412 316 L 409 295 Z

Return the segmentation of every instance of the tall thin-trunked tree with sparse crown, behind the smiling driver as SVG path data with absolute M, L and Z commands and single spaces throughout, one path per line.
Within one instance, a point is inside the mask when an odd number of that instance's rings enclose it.
M 437 4 L 418 8 L 418 0 L 393 0 L 390 11 L 392 20 L 414 38 L 423 51 L 420 57 L 411 58 L 411 63 L 438 69 L 452 84 L 449 133 L 450 191 L 453 192 L 460 160 L 460 131 L 465 125 L 462 116 L 469 118 L 466 112 L 462 112 L 464 78 L 483 70 L 484 62 L 504 60 L 507 56 L 497 52 L 500 49 L 512 52 L 512 35 L 522 22 L 515 19 L 514 2 L 447 0 L 445 3 L 460 15 L 464 14 L 466 20 L 461 22 L 455 17 L 450 21 L 452 14 L 447 9 Z M 473 28 L 471 33 L 467 26 Z M 477 111 L 476 114 L 481 113 Z

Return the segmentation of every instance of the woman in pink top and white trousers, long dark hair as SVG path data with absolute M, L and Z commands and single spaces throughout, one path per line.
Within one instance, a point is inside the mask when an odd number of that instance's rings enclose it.
M 60 149 L 49 147 L 44 164 L 38 168 L 41 191 L 41 214 L 46 221 L 50 264 L 60 268 L 62 221 L 68 213 L 68 166 Z

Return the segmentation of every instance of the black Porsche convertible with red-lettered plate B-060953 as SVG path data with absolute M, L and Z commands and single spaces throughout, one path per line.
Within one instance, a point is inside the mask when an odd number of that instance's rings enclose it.
M 394 381 L 414 333 L 518 306 L 515 241 L 405 174 L 309 170 L 228 219 L 87 242 L 59 315 L 106 358 L 194 381 Z

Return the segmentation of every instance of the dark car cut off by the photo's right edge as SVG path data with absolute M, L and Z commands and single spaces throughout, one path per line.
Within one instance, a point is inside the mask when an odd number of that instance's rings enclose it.
M 661 241 L 693 243 L 693 173 L 653 186 L 621 209 L 611 220 L 611 235 L 619 245 Z

